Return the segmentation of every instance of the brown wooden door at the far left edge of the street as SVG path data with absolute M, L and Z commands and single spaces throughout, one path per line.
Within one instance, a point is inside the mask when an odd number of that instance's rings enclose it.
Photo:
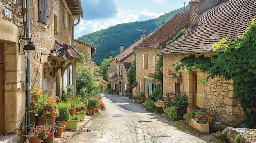
M 0 115 L 4 115 L 4 43 L 0 42 Z M 4 116 L 0 116 L 0 136 L 4 135 Z

